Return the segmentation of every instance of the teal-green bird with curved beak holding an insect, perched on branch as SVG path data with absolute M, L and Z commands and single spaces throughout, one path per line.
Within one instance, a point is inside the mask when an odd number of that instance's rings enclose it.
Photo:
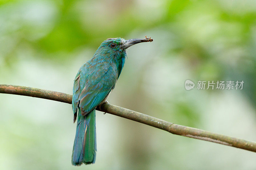
M 127 48 L 152 39 L 108 38 L 100 44 L 93 57 L 76 74 L 73 86 L 72 109 L 76 136 L 72 165 L 93 164 L 96 159 L 95 109 L 107 103 L 124 67 Z M 78 113 L 77 113 L 78 111 Z

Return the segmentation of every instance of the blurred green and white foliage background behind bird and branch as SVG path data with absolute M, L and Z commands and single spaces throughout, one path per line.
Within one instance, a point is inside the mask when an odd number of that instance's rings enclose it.
M 256 141 L 256 2 L 1 0 L 0 84 L 71 94 L 107 38 L 151 36 L 128 50 L 109 103 Z M 190 90 L 243 80 L 243 90 Z M 256 169 L 256 155 L 96 113 L 97 158 L 75 167 L 71 105 L 0 94 L 0 169 Z

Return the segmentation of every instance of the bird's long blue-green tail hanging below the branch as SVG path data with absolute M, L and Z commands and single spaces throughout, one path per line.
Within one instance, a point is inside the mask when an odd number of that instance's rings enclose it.
M 96 159 L 95 109 L 83 116 L 79 109 L 76 137 L 72 153 L 72 165 L 93 164 Z

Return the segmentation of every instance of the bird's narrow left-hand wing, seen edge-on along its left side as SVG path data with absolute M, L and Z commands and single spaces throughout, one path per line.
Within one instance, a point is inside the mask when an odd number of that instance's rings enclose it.
M 76 78 L 74 80 L 74 86 L 73 86 L 72 108 L 74 113 L 74 122 L 76 122 L 79 95 L 80 95 L 80 71 L 78 71 L 76 75 Z

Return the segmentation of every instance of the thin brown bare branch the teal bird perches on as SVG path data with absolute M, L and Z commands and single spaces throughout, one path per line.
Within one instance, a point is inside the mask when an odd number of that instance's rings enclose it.
M 70 94 L 53 92 L 50 90 L 43 90 L 43 89 L 37 89 L 37 88 L 25 87 L 25 86 L 19 86 L 19 85 L 0 85 L 0 93 L 18 94 L 23 96 L 31 96 L 31 97 L 55 100 L 55 101 L 72 104 L 72 95 Z M 126 108 L 118 107 L 115 105 L 103 104 L 100 108 L 97 107 L 96 109 L 112 115 L 124 117 L 126 119 L 147 124 L 149 126 L 153 126 L 158 129 L 163 129 L 175 135 L 201 139 L 209 142 L 224 144 L 224 145 L 233 146 L 236 148 L 241 148 L 248 151 L 256 152 L 256 143 L 252 141 L 220 135 L 220 134 L 208 132 L 201 129 L 191 128 L 187 126 L 177 125 L 177 124 L 166 122 L 164 120 L 157 119 L 152 116 L 144 115 L 142 113 L 135 112 Z

